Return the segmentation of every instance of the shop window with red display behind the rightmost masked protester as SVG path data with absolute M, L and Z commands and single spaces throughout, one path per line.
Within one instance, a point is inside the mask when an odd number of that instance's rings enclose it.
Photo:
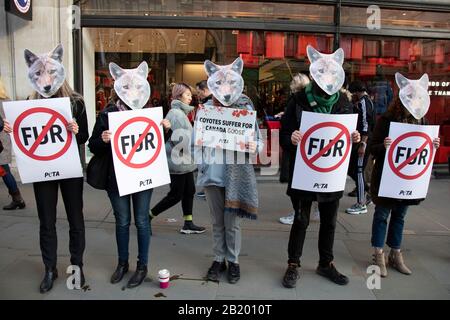
M 431 98 L 427 118 L 433 124 L 450 124 L 450 40 L 345 35 L 341 47 L 348 81 L 366 83 L 378 114 L 398 93 L 396 72 L 411 79 L 427 73 Z

